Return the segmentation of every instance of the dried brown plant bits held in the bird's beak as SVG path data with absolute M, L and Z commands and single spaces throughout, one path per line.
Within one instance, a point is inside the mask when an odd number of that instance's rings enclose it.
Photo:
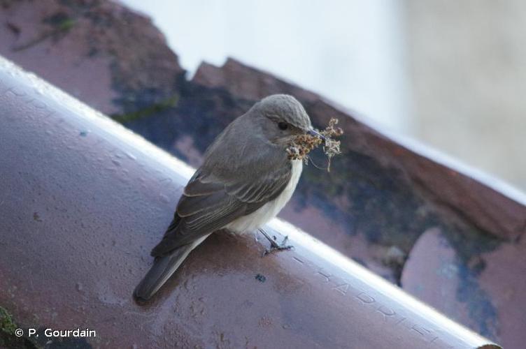
M 318 145 L 324 143 L 323 152 L 327 155 L 328 164 L 327 172 L 330 172 L 331 158 L 337 154 L 340 154 L 340 141 L 334 140 L 334 137 L 343 135 L 343 130 L 336 127 L 338 119 L 332 118 L 329 121 L 329 126 L 325 130 L 320 131 L 320 134 L 325 137 L 325 142 L 317 135 L 297 135 L 289 147 L 287 147 L 287 154 L 291 160 L 303 160 L 305 163 L 308 161 L 308 153 L 318 147 Z

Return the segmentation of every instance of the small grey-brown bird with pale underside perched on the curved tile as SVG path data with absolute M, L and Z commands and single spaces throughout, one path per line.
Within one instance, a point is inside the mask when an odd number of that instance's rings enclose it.
M 262 99 L 232 121 L 206 149 L 203 165 L 185 186 L 135 297 L 152 297 L 212 232 L 250 232 L 275 217 L 301 175 L 301 160 L 290 160 L 285 149 L 295 135 L 304 133 L 323 139 L 301 103 L 285 94 Z M 283 248 L 260 231 L 274 248 Z

